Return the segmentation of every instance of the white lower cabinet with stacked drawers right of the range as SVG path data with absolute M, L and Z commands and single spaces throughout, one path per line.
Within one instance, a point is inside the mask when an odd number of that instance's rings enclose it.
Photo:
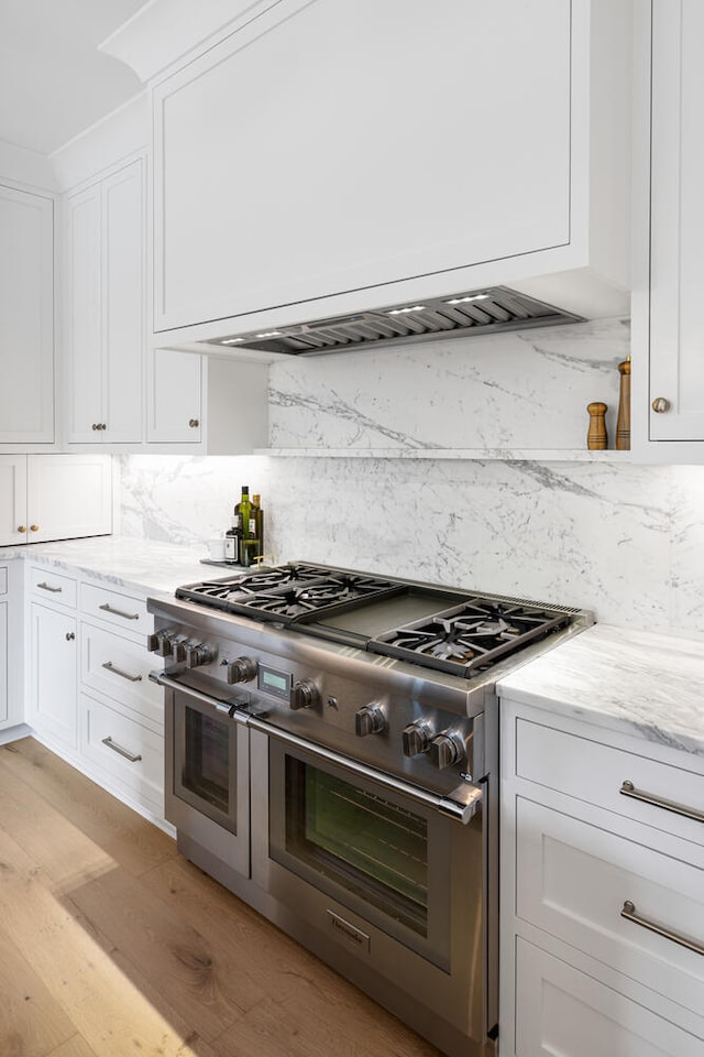
M 703 1057 L 702 761 L 504 699 L 502 769 L 502 1057 Z

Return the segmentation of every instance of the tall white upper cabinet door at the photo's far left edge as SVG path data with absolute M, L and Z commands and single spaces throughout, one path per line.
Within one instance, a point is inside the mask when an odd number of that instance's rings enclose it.
M 54 203 L 0 185 L 0 444 L 54 440 Z

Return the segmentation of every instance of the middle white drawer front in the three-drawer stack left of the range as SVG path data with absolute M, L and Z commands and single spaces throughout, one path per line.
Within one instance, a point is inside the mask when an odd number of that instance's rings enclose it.
M 84 622 L 81 683 L 140 716 L 164 724 L 164 693 L 148 678 L 154 661 L 131 639 Z

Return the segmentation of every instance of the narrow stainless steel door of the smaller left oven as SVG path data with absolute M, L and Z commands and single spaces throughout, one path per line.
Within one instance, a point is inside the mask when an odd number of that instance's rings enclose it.
M 250 876 L 246 721 L 206 695 L 166 680 L 165 814 L 188 859 L 231 885 Z

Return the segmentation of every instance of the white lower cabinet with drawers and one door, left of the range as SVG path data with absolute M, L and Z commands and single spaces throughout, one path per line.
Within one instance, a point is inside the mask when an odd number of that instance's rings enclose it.
M 98 785 L 163 824 L 163 695 L 148 678 L 158 662 L 146 649 L 146 596 L 40 564 L 28 568 L 25 589 L 26 721 Z

